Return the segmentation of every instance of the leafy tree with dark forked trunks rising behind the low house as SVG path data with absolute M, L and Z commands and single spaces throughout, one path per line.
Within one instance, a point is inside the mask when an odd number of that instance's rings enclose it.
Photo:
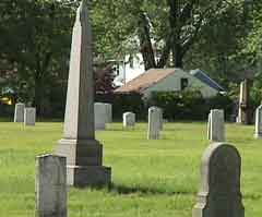
M 225 14 L 236 2 L 94 0 L 93 11 L 96 17 L 105 21 L 105 40 L 114 45 L 115 53 L 121 53 L 124 49 L 129 51 L 124 45 L 130 38 L 135 38 L 133 45 L 139 45 L 146 70 L 166 65 L 183 68 L 186 55 L 199 41 L 205 26 L 212 26 L 214 20 Z M 115 37 L 118 46 L 114 41 Z

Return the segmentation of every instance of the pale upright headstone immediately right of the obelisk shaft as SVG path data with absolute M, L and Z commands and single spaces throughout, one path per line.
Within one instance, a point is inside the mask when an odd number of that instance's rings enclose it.
M 94 104 L 95 111 L 95 130 L 105 130 L 106 129 L 106 106 L 103 103 Z

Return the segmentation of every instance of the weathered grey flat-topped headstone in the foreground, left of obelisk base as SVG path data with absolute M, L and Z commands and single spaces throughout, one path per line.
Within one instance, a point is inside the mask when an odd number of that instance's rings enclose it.
M 36 216 L 67 217 L 67 158 L 55 155 L 37 157 Z

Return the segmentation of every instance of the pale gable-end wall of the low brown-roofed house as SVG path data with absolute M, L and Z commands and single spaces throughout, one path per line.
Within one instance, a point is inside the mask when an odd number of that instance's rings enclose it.
M 166 79 L 145 89 L 143 93 L 144 97 L 150 98 L 152 92 L 179 92 L 181 91 L 181 79 L 188 79 L 188 88 L 199 89 L 204 98 L 213 97 L 218 93 L 216 89 L 204 84 L 191 74 L 177 69 L 175 73 L 168 75 Z

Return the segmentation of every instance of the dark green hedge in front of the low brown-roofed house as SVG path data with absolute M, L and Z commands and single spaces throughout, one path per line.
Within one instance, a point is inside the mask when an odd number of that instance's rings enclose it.
M 224 109 L 228 118 L 234 104 L 228 96 L 222 95 L 204 99 L 199 92 L 155 92 L 148 106 L 163 108 L 168 120 L 205 120 L 211 109 Z

